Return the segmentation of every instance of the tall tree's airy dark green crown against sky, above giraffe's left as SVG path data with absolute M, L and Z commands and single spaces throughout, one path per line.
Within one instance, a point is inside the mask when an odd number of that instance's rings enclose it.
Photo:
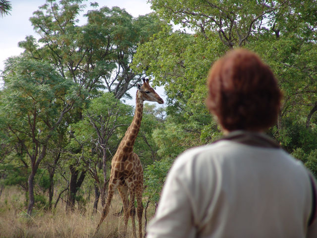
M 105 88 L 120 99 L 143 77 L 129 66 L 137 45 L 148 41 L 163 22 L 154 14 L 133 18 L 119 7 L 102 7 L 88 11 L 87 23 L 79 26 L 77 17 L 85 8 L 81 2 L 48 0 L 30 18 L 44 46 L 33 37 L 20 46 L 34 58 L 52 62 L 60 75 L 90 93 Z

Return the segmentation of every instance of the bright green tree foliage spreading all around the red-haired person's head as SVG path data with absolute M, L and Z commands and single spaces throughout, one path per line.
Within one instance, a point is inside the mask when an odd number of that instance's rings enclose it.
M 187 27 L 192 33 L 165 28 L 138 48 L 134 66 L 164 85 L 167 115 L 172 117 L 177 133 L 191 134 L 191 146 L 219 136 L 204 106 L 206 77 L 214 60 L 241 46 L 259 53 L 272 67 L 284 92 L 281 115 L 272 135 L 291 152 L 287 120 L 295 119 L 315 133 L 315 1 L 150 2 L 167 22 Z

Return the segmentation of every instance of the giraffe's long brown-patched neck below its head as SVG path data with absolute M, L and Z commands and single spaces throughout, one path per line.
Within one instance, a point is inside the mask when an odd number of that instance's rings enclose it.
M 132 153 L 135 139 L 140 130 L 142 114 L 143 114 L 143 100 L 142 98 L 138 96 L 138 92 L 137 92 L 134 117 L 120 143 L 121 149 L 126 154 Z

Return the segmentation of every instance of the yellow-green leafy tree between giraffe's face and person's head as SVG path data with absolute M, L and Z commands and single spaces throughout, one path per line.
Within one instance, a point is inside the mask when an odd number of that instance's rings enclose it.
M 216 128 L 204 104 L 206 76 L 211 62 L 228 48 L 221 45 L 215 33 L 208 34 L 213 41 L 206 40 L 201 33 L 192 35 L 167 29 L 152 42 L 140 46 L 135 55 L 135 70 L 153 75 L 157 84 L 164 85 L 168 96 L 166 130 L 158 136 L 165 133 L 169 136 L 176 131 L 179 133 L 176 137 L 182 138 L 178 143 L 182 150 L 206 143 L 210 139 L 206 132 L 211 127 Z M 161 150 L 170 151 L 168 148 Z

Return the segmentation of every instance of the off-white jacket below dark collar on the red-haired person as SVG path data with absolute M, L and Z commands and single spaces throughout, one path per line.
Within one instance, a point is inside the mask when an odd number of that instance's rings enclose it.
M 317 238 L 312 184 L 280 148 L 220 140 L 180 155 L 148 238 Z

